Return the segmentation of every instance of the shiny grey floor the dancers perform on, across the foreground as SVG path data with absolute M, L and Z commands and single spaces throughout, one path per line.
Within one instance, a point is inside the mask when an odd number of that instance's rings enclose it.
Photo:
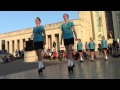
M 94 62 L 84 60 L 83 63 L 79 61 L 74 63 L 74 72 L 70 73 L 67 70 L 67 61 L 56 61 L 56 64 L 47 65 L 41 75 L 34 68 L 2 75 L 0 79 L 120 79 L 120 58 L 109 57 L 109 61 L 104 61 L 99 57 Z

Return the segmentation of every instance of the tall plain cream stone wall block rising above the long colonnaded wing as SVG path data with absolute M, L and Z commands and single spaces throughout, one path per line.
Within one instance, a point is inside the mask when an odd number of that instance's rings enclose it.
M 78 28 L 80 30 L 77 33 L 79 33 L 78 38 L 81 38 L 83 44 L 85 44 L 85 42 L 89 42 L 90 37 L 93 37 L 93 39 L 95 39 L 95 37 L 93 36 L 95 28 L 93 23 L 94 22 L 93 14 L 94 14 L 93 11 L 79 11 L 80 23 Z

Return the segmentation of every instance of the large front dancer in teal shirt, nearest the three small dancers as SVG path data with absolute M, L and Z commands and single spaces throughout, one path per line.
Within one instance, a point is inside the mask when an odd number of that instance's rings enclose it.
M 61 25 L 62 35 L 61 35 L 61 45 L 62 45 L 62 38 L 64 39 L 64 45 L 67 51 L 67 59 L 68 59 L 68 71 L 73 71 L 73 59 L 72 59 L 72 46 L 74 45 L 74 36 L 73 32 L 75 34 L 75 39 L 77 40 L 77 34 L 74 28 L 73 22 L 70 22 L 69 15 L 64 14 L 64 23 Z

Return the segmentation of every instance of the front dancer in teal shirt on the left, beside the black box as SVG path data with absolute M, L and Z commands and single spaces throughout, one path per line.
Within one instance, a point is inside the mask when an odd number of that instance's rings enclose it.
M 44 45 L 46 45 L 46 33 L 44 27 L 40 25 L 41 19 L 39 17 L 36 18 L 35 23 L 36 27 L 33 28 L 32 37 L 34 42 L 34 49 L 38 56 L 38 73 L 40 74 L 43 71 L 43 69 L 45 69 L 42 62 L 41 53 L 44 48 Z

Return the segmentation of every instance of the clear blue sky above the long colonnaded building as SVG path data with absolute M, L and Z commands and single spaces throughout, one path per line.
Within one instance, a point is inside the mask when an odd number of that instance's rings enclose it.
M 78 11 L 0 11 L 0 34 L 34 27 L 36 17 L 41 18 L 41 25 L 61 22 L 64 13 L 70 20 L 78 18 Z

